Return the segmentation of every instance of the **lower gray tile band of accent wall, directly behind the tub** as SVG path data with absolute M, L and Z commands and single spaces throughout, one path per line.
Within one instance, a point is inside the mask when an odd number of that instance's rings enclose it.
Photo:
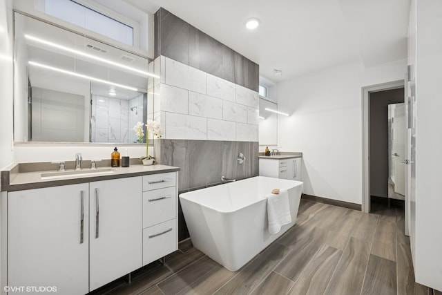
M 249 178 L 258 176 L 258 142 L 215 140 L 155 140 L 160 149 L 160 164 L 180 167 L 180 193 L 221 184 L 221 176 Z M 243 164 L 236 161 L 238 153 L 246 157 Z M 178 240 L 189 238 L 181 206 L 178 207 Z

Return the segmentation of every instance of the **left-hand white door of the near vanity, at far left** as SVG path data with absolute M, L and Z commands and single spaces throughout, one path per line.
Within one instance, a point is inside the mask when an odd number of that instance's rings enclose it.
M 88 184 L 8 193 L 9 286 L 88 293 L 88 193 Z

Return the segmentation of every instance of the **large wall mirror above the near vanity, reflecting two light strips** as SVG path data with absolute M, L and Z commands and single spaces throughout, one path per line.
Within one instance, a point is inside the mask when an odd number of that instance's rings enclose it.
M 153 63 L 15 12 L 15 142 L 135 143 Z

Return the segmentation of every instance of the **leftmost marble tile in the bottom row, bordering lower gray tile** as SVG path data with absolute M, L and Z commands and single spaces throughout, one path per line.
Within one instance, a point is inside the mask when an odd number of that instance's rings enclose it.
M 167 139 L 206 140 L 207 119 L 177 113 L 165 113 Z

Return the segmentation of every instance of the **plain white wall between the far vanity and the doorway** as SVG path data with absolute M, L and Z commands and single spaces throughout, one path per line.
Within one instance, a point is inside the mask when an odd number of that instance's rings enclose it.
M 280 151 L 302 152 L 303 192 L 362 203 L 362 87 L 404 78 L 406 61 L 343 64 L 278 84 Z

